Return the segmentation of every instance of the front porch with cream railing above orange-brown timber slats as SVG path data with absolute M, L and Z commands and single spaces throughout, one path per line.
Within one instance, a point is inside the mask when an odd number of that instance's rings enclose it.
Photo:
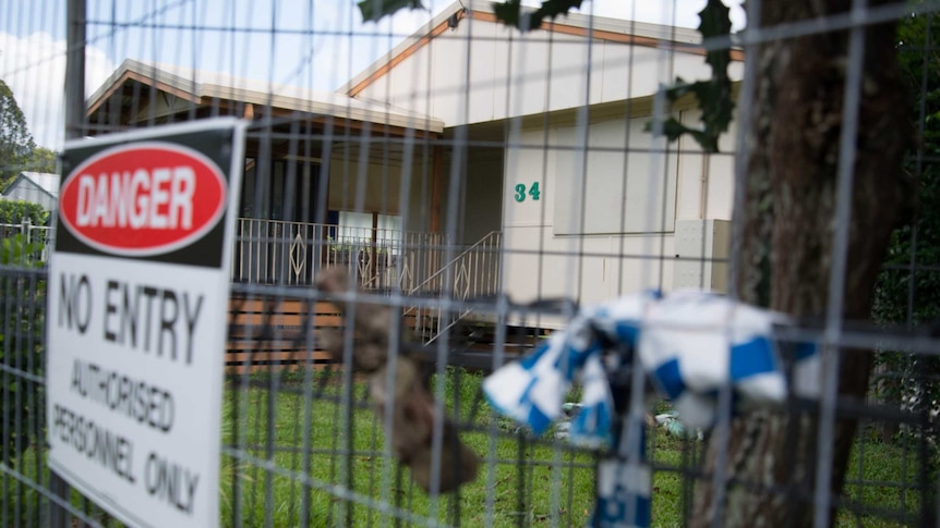
M 314 300 L 304 287 L 330 266 L 348 268 L 371 293 L 398 291 L 425 299 L 445 294 L 457 300 L 450 309 L 426 303 L 406 305 L 402 324 L 424 344 L 454 329 L 454 364 L 468 368 L 489 365 L 489 355 L 481 356 L 473 346 L 480 336 L 471 339 L 469 333 L 471 328 L 479 333 L 481 323 L 486 329 L 491 326 L 473 318 L 468 302 L 498 292 L 502 233 L 491 232 L 470 246 L 455 246 L 437 233 L 250 218 L 238 219 L 237 233 L 226 348 L 230 373 L 335 363 L 316 336 L 324 329 L 341 327 L 342 318 L 332 303 Z M 447 259 L 448 255 L 456 256 Z M 299 287 L 287 295 L 240 287 L 266 284 Z M 483 339 L 493 333 L 484 332 Z M 303 339 L 306 334 L 315 337 Z M 523 340 L 526 346 L 531 345 L 528 337 Z

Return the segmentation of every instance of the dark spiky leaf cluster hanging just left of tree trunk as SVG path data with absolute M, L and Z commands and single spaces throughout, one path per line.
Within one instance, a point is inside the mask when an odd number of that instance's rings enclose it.
M 722 37 L 731 34 L 731 10 L 721 0 L 709 0 L 699 12 L 701 24 L 699 33 L 708 40 L 711 37 Z M 688 134 L 706 152 L 718 152 L 718 139 L 727 132 L 734 112 L 734 101 L 731 98 L 731 77 L 727 67 L 731 64 L 731 48 L 710 49 L 706 51 L 706 63 L 711 66 L 712 76 L 708 81 L 692 83 L 676 77 L 676 82 L 665 89 L 670 102 L 675 102 L 687 94 L 695 96 L 702 111 L 701 128 L 692 128 L 679 123 L 675 118 L 663 122 L 663 134 L 671 140 Z M 652 123 L 647 123 L 647 130 Z

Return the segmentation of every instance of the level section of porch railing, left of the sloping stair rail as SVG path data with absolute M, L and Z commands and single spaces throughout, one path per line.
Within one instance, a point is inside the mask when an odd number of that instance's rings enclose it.
M 442 247 L 437 233 L 240 218 L 232 282 L 310 285 L 320 269 L 347 266 L 363 287 L 407 292 L 437 271 Z

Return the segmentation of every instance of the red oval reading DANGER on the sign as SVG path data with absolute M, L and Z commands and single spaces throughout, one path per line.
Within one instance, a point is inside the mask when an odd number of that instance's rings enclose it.
M 221 218 L 226 183 L 202 154 L 169 143 L 136 143 L 98 152 L 59 192 L 65 228 L 115 255 L 168 253 L 201 238 Z

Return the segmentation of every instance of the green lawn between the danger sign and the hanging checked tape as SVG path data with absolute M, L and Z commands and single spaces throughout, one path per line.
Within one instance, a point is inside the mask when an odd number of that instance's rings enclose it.
M 459 388 L 455 386 L 455 380 L 462 381 Z M 461 394 L 459 410 L 463 420 L 473 407 L 479 383 L 479 377 L 466 373 L 447 378 L 445 401 L 453 412 L 454 394 Z M 293 383 L 287 386 L 302 390 Z M 352 400 L 362 402 L 363 392 L 364 385 L 357 383 Z M 312 526 L 360 526 L 370 521 L 375 526 L 389 525 L 391 517 L 383 514 L 382 507 L 410 512 L 420 524 L 426 519 L 454 521 L 459 512 L 460 524 L 465 526 L 482 526 L 486 518 L 492 518 L 495 526 L 515 526 L 520 516 L 531 521 L 554 517 L 562 525 L 580 526 L 591 512 L 594 475 L 590 454 L 574 453 L 564 444 L 547 440 L 520 441 L 510 433 L 513 426 L 506 420 L 491 419 L 485 407 L 474 417 L 477 430 L 461 433 L 467 445 L 484 458 L 477 480 L 461 487 L 458 496 L 443 496 L 435 504 L 411 483 L 409 470 L 400 468 L 394 457 L 385 453 L 382 426 L 371 408 L 357 408 L 347 423 L 345 407 L 324 397 L 314 397 L 308 403 L 302 392 L 279 391 L 275 401 L 269 402 L 270 394 L 262 389 L 229 393 L 225 404 L 224 442 L 233 442 L 238 430 L 240 445 L 261 447 L 246 451 L 256 458 L 272 461 L 286 475 L 266 478 L 264 469 L 257 465 L 246 459 L 236 465 L 231 457 L 225 457 L 224 526 L 234 520 L 233 489 L 240 493 L 240 520 L 250 526 L 264 525 L 266 516 L 270 516 L 274 526 L 296 526 L 304 492 L 309 493 Z M 335 384 L 325 391 L 328 396 L 340 394 L 339 385 Z M 270 409 L 274 409 L 274 417 L 268 422 Z M 232 427 L 236 413 L 239 414 L 238 426 Z M 274 430 L 272 443 L 275 447 L 302 447 L 305 420 L 310 423 L 310 451 L 314 452 L 309 464 L 302 453 L 284 449 L 275 450 L 270 458 L 266 456 L 268 429 Z M 494 430 L 498 434 L 491 435 Z M 347 442 L 352 445 L 352 456 L 342 454 Z M 485 461 L 491 450 L 495 464 Z M 519 459 L 523 461 L 521 466 Z M 311 486 L 306 489 L 300 481 L 302 476 L 310 478 Z M 492 490 L 487 486 L 490 482 Z M 338 488 L 332 488 L 334 486 Z M 338 489 L 349 489 L 357 495 L 351 501 L 339 500 Z M 375 502 L 370 504 L 369 501 Z

